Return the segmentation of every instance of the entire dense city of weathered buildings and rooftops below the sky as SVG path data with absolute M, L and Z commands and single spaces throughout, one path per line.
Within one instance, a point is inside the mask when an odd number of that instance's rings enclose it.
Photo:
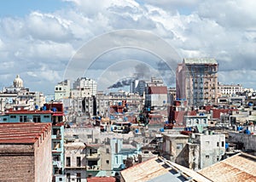
M 175 88 L 151 77 L 104 93 L 79 77 L 44 95 L 25 82 L 0 93 L 1 181 L 256 180 L 256 91 L 219 83 L 215 59 L 183 59 Z

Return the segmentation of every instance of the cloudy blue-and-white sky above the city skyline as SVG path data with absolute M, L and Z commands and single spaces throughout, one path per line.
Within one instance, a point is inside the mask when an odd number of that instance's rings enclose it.
M 20 75 L 54 94 L 73 69 L 106 91 L 143 71 L 174 77 L 172 63 L 201 57 L 218 61 L 219 82 L 255 89 L 255 9 L 253 0 L 1 1 L 0 89 Z

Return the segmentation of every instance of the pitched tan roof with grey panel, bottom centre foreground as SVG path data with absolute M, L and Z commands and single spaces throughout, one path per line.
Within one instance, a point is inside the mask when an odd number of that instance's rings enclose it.
M 125 181 L 203 181 L 209 179 L 200 173 L 184 168 L 174 162 L 166 161 L 160 157 L 154 157 L 146 162 L 139 163 L 120 172 Z

